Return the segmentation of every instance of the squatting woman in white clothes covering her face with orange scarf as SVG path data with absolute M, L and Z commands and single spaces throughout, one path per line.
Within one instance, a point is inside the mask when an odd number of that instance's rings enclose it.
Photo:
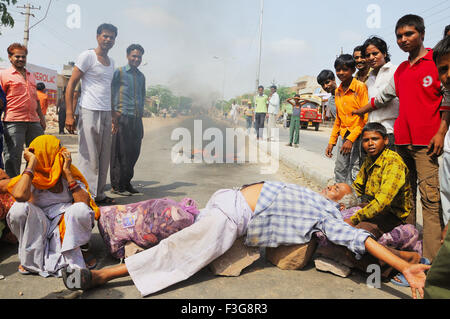
M 61 276 L 65 266 L 92 266 L 82 250 L 100 211 L 70 152 L 56 137 L 42 135 L 25 149 L 24 158 L 24 172 L 8 184 L 16 200 L 7 222 L 19 241 L 19 272 Z

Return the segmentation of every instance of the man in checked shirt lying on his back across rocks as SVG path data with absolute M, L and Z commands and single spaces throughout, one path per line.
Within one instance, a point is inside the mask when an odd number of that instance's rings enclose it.
M 192 226 L 126 258 L 122 265 L 79 272 L 65 268 L 64 284 L 71 290 L 87 290 L 130 275 L 146 296 L 189 278 L 224 254 L 245 233 L 248 246 L 277 247 L 307 243 L 321 231 L 357 258 L 368 252 L 402 272 L 411 285 L 412 296 L 417 298 L 418 290 L 423 297 L 424 271 L 430 266 L 408 263 L 378 244 L 366 230 L 347 224 L 338 207 L 348 196 L 353 195 L 347 184 L 335 184 L 321 194 L 280 182 L 219 190 Z

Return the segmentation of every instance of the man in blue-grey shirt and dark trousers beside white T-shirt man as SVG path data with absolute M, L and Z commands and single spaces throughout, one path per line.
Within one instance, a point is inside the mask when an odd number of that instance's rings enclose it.
M 113 193 L 129 196 L 139 193 L 131 185 L 134 165 L 144 136 L 142 114 L 145 103 L 145 76 L 138 70 L 144 48 L 132 44 L 127 49 L 128 65 L 114 72 L 112 81 L 113 137 L 111 186 Z

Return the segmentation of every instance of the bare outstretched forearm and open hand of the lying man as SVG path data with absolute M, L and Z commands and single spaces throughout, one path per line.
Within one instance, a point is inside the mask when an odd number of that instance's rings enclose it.
M 367 237 L 364 246 L 369 254 L 387 263 L 401 272 L 411 287 L 412 297 L 417 299 L 417 290 L 421 298 L 424 296 L 425 279 L 424 271 L 430 269 L 430 265 L 410 264 L 400 257 L 394 255 L 387 248 L 380 245 L 372 237 Z

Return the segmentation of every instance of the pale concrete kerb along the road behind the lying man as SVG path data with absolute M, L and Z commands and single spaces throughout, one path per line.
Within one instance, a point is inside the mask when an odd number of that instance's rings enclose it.
M 231 124 L 229 119 L 216 118 L 216 120 L 224 123 Z M 238 126 L 245 128 L 245 121 L 240 119 Z M 272 143 L 278 143 L 279 160 L 287 167 L 298 171 L 304 178 L 313 182 L 320 188 L 328 186 L 328 183 L 333 180 L 334 177 L 334 161 L 326 158 L 325 155 L 319 155 L 303 149 L 302 147 L 294 148 L 284 145 L 283 142 L 267 142 L 256 141 L 254 135 L 249 136 L 254 142 L 254 145 L 258 143 L 260 150 L 271 156 Z

